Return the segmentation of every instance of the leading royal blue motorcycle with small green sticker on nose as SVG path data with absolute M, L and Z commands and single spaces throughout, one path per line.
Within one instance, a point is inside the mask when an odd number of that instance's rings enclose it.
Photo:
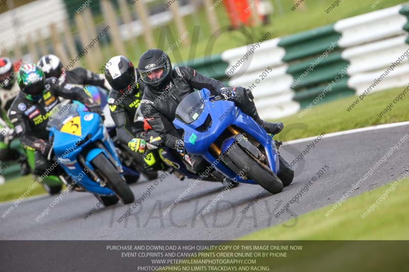
M 184 131 L 186 151 L 201 155 L 230 180 L 281 192 L 292 182 L 294 171 L 278 153 L 280 142 L 234 102 L 221 99 L 202 89 L 180 102 L 173 125 Z

